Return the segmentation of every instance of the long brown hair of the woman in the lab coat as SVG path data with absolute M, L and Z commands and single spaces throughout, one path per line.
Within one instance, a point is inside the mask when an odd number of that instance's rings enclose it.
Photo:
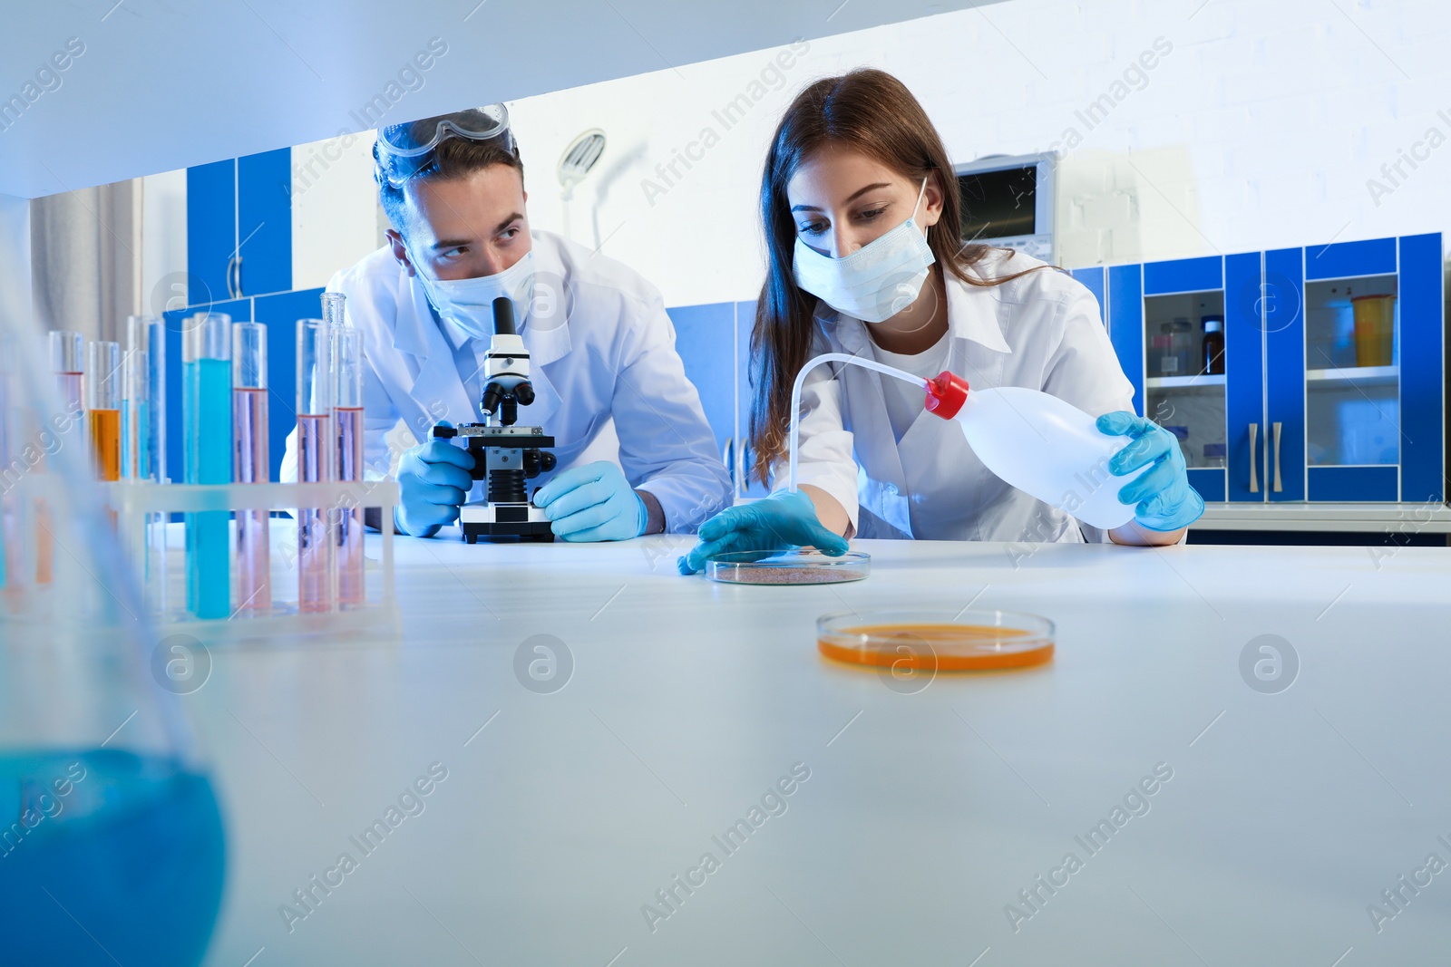
M 815 81 L 797 94 L 770 139 L 760 178 L 766 281 L 750 333 L 750 447 L 753 470 L 762 483 L 769 483 L 770 464 L 786 449 L 791 384 L 811 351 L 815 307 L 815 296 L 798 289 L 791 273 L 797 225 L 786 184 L 824 145 L 859 151 L 914 184 L 936 173 L 943 204 L 942 216 L 927 232 L 927 245 L 943 271 L 969 286 L 997 286 L 1024 274 L 982 280 L 968 271 L 992 246 L 962 244 L 958 180 L 948 149 L 905 84 L 885 71 L 858 68 Z

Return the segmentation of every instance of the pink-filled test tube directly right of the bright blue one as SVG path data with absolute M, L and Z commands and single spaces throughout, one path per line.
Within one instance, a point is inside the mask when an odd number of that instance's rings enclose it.
M 267 326 L 232 326 L 232 435 L 237 441 L 237 483 L 267 483 Z M 237 512 L 237 610 L 271 613 L 267 509 Z

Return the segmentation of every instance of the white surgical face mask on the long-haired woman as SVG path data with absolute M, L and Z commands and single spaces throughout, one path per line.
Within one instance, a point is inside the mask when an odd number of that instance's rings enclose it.
M 936 261 L 927 236 L 916 222 L 926 190 L 927 180 L 923 178 L 911 216 L 850 255 L 823 255 L 798 235 L 792 260 L 797 286 L 862 322 L 887 322 L 917 302 Z

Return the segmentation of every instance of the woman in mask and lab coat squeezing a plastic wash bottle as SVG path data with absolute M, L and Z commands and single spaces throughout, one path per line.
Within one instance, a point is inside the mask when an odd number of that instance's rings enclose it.
M 752 333 L 755 473 L 785 480 L 791 384 L 821 352 L 862 355 L 975 389 L 1022 386 L 1133 442 L 1116 476 L 1133 520 L 1117 544 L 1175 544 L 1204 510 L 1178 441 L 1129 412 L 1133 390 L 1093 294 L 1010 249 L 963 245 L 958 184 L 921 104 L 895 77 L 856 70 L 807 87 L 776 128 L 760 186 L 766 283 Z M 800 491 L 784 487 L 699 529 L 681 570 L 724 551 L 846 539 L 1103 541 L 1104 534 L 992 476 L 923 391 L 823 364 L 801 394 Z

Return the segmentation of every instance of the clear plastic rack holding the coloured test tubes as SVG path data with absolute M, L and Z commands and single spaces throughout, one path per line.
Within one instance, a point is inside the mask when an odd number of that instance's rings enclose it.
M 245 615 L 237 609 L 225 619 L 197 619 L 181 607 L 184 594 L 171 587 L 183 573 L 180 535 L 184 523 L 158 523 L 158 515 L 206 513 L 237 510 L 287 510 L 297 507 L 344 510 L 354 507 L 382 510 L 382 520 L 392 523 L 398 505 L 398 483 L 393 480 L 324 481 L 324 483 L 239 483 L 239 484 L 158 484 L 149 480 L 119 480 L 102 484 L 110 509 L 116 513 L 120 544 L 138 574 L 145 576 L 147 599 L 157 606 L 152 619 L 163 634 L 189 634 L 200 641 L 225 642 L 245 639 L 312 638 L 319 635 L 344 638 L 390 638 L 400 632 L 393 584 L 393 529 L 385 526 L 379 541 L 380 561 L 370 570 L 367 603 L 340 609 L 334 568 L 331 610 L 302 612 L 296 600 L 289 600 L 289 587 L 296 589 L 296 547 L 289 536 L 296 531 L 293 520 L 273 518 L 273 607 L 270 613 Z M 329 515 L 331 516 L 331 515 Z M 163 518 L 164 519 L 164 518 Z M 176 536 L 165 541 L 168 552 L 163 567 L 152 567 L 148 555 L 157 547 L 154 528 L 165 526 Z M 235 528 L 235 520 L 232 522 Z M 235 531 L 229 541 L 235 586 Z M 280 547 L 279 547 L 280 545 Z M 279 567 L 279 557 L 281 567 Z M 290 558 L 290 560 L 289 560 Z M 281 580 L 279 580 L 281 576 Z M 158 587 L 158 581 L 161 583 Z

